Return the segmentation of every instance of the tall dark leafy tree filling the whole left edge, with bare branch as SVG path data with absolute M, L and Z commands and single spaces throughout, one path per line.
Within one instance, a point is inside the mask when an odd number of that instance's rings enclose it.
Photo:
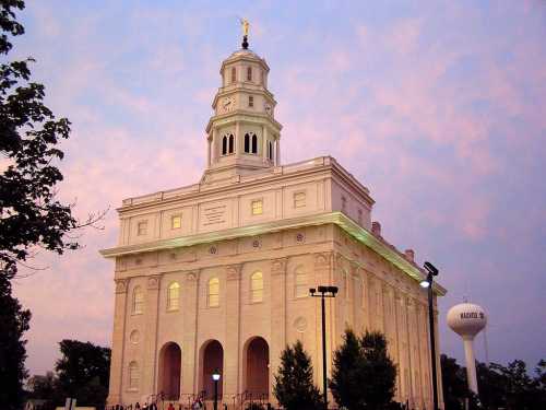
M 15 12 L 23 0 L 0 0 L 0 55 L 7 56 L 11 38 L 24 34 Z M 56 199 L 62 174 L 56 162 L 57 147 L 69 138 L 70 121 L 57 119 L 44 105 L 45 87 L 31 81 L 32 58 L 0 65 L 0 408 L 17 408 L 26 376 L 24 361 L 31 313 L 12 296 L 11 280 L 19 265 L 34 249 L 62 254 L 79 244 L 67 233 L 94 225 L 105 212 L 91 214 L 84 223 L 72 215 L 73 204 Z

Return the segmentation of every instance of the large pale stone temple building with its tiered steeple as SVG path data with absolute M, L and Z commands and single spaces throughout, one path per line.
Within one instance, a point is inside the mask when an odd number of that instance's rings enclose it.
M 274 403 L 281 352 L 298 339 L 321 386 L 320 300 L 309 288 L 335 285 L 329 371 L 347 327 L 380 330 L 396 400 L 431 409 L 425 274 L 413 250 L 382 237 L 369 190 L 333 157 L 281 162 L 269 72 L 245 36 L 219 69 L 201 180 L 118 209 L 118 244 L 102 250 L 116 282 L 108 403 L 210 400 L 214 371 L 229 409 Z M 435 285 L 435 304 L 444 293 Z M 439 396 L 443 408 L 441 383 Z

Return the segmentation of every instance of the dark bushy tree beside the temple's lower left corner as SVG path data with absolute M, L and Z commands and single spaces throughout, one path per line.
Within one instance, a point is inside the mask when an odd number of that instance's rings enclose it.
M 110 349 L 78 340 L 62 340 L 56 363 L 58 394 L 82 406 L 102 407 L 108 395 Z

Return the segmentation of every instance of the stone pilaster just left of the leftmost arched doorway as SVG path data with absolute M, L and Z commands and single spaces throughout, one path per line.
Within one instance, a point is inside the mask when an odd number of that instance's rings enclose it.
M 161 276 L 147 278 L 146 305 L 144 308 L 144 358 L 142 367 L 142 394 L 156 391 L 157 371 L 157 314 L 159 308 Z

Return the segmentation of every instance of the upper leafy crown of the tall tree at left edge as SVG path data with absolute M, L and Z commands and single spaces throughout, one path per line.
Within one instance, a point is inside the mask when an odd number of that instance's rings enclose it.
M 23 8 L 21 0 L 0 0 L 0 54 L 12 48 L 8 34 L 24 33 L 14 14 Z M 55 198 L 62 180 L 55 161 L 63 156 L 57 144 L 69 138 L 70 121 L 44 105 L 44 85 L 31 81 L 32 61 L 0 66 L 0 153 L 8 164 L 0 174 L 0 274 L 9 279 L 35 246 L 58 254 L 78 247 L 64 236 L 78 227 L 71 208 Z

